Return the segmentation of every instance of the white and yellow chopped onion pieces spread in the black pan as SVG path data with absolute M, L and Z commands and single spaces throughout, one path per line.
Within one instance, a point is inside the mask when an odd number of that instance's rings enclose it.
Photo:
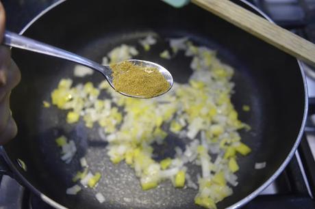
M 149 49 L 155 42 L 153 37 L 140 40 L 144 49 Z M 202 176 L 197 173 L 199 191 L 196 204 L 215 208 L 216 202 L 232 194 L 229 185 L 238 184 L 237 176 L 232 173 L 236 169 L 230 169 L 229 165 L 231 161 L 236 164 L 236 152 L 251 152 L 240 141 L 237 132 L 249 126 L 238 120 L 238 113 L 231 103 L 234 69 L 223 64 L 215 51 L 205 46 L 194 46 L 188 38 L 171 39 L 170 46 L 174 55 L 184 51 L 192 58 L 190 67 L 193 73 L 188 83 L 174 83 L 164 96 L 134 100 L 116 94 L 107 82 L 96 87 L 90 82 L 72 86 L 71 79 L 62 79 L 51 94 L 52 104 L 76 116 L 75 120 L 68 122 L 80 119 L 87 128 L 98 124 L 99 137 L 108 142 L 106 150 L 112 163 L 125 161 L 134 168 L 144 190 L 155 188 L 166 179 L 175 186 L 184 186 L 183 173 L 186 173 L 184 187 L 198 189 L 188 174 L 186 163 L 200 166 Z M 171 58 L 167 52 L 162 57 Z M 103 57 L 103 64 L 131 59 L 137 54 L 136 48 L 122 44 Z M 104 100 L 100 96 L 104 93 L 112 98 Z M 163 145 L 168 130 L 180 139 L 190 139 L 190 143 L 183 150 L 176 147 L 175 158 L 169 158 L 165 165 L 166 161 L 155 161 L 152 145 Z M 62 159 L 70 163 L 76 152 L 74 141 L 60 139 L 58 145 L 62 148 Z M 88 172 L 86 161 L 80 159 L 80 163 L 85 170 L 84 175 L 78 174 L 77 180 L 80 179 L 83 186 L 94 188 L 101 173 L 93 176 Z M 256 163 L 255 169 L 262 168 L 261 164 Z

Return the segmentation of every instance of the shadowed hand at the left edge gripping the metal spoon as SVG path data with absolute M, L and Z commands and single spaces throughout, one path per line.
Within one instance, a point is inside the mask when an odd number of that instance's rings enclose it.
M 5 10 L 0 2 L 0 43 L 5 31 Z M 0 44 L 0 145 L 17 133 L 16 123 L 10 111 L 11 90 L 21 80 L 21 73 L 11 59 L 10 49 Z

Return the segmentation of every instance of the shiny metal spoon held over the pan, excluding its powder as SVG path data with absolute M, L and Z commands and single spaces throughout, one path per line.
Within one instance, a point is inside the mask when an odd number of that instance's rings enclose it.
M 65 51 L 61 48 L 57 48 L 55 46 L 50 46 L 49 44 L 44 44 L 42 42 L 32 40 L 31 38 L 26 38 L 25 36 L 20 36 L 10 31 L 5 31 L 3 44 L 7 46 L 12 46 L 15 48 L 21 48 L 27 51 L 34 51 L 36 53 L 51 55 L 53 57 L 60 57 L 62 59 L 67 59 L 69 61 L 74 61 L 84 66 L 88 66 L 89 68 L 92 68 L 93 70 L 97 70 L 101 72 L 101 74 L 105 76 L 108 83 L 110 83 L 110 85 L 115 89 L 114 84 L 113 84 L 112 69 L 110 68 L 110 66 L 102 66 L 101 64 L 98 64 L 97 62 L 92 61 L 90 59 L 86 59 L 85 57 L 81 57 L 74 53 Z M 158 94 L 155 96 L 160 96 L 162 94 L 165 94 L 173 86 L 173 76 L 163 66 L 160 66 L 159 64 L 156 64 L 151 61 L 144 61 L 144 60 L 139 60 L 139 59 L 129 59 L 128 61 L 131 61 L 137 65 L 142 65 L 144 67 L 157 68 L 157 70 L 159 70 L 160 73 L 164 76 L 166 81 L 170 84 L 170 87 L 166 89 L 165 92 L 161 92 L 161 94 Z M 146 98 L 145 96 L 125 94 L 124 92 L 119 92 L 119 93 L 125 96 L 134 97 L 134 98 Z

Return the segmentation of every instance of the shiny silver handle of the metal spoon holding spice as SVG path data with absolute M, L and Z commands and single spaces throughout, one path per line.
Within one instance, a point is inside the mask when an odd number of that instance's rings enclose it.
M 105 66 L 101 66 L 95 61 L 92 61 L 90 59 L 86 59 L 84 57 L 76 55 L 74 53 L 65 51 L 61 48 L 57 48 L 49 44 L 44 44 L 42 42 L 32 40 L 31 38 L 26 38 L 25 36 L 20 36 L 10 31 L 5 31 L 3 44 L 6 46 L 12 46 L 12 47 L 21 48 L 27 51 L 34 51 L 36 53 L 41 53 L 41 54 L 50 55 L 53 57 L 59 57 L 59 58 L 66 59 L 69 61 L 74 61 L 76 63 L 98 70 L 102 74 L 104 74 L 104 71 L 105 71 L 104 69 Z

